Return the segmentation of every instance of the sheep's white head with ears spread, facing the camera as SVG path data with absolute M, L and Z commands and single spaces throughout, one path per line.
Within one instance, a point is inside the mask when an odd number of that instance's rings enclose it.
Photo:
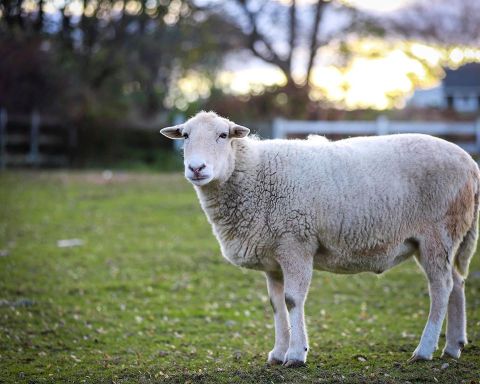
M 160 131 L 170 139 L 185 140 L 185 177 L 196 186 L 225 180 L 232 171 L 232 140 L 248 135 L 248 128 L 214 112 L 200 112 L 184 124 Z

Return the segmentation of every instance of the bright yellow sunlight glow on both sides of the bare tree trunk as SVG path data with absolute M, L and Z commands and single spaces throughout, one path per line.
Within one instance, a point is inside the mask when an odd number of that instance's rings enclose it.
M 414 41 L 392 44 L 371 39 L 352 44 L 354 59 L 346 67 L 314 68 L 312 100 L 327 99 L 347 109 L 402 107 L 416 88 L 438 85 L 442 67 L 480 61 L 480 50 L 471 47 L 446 50 Z M 285 77 L 275 67 L 250 67 L 221 72 L 216 84 L 237 95 L 258 94 L 265 87 L 285 84 Z

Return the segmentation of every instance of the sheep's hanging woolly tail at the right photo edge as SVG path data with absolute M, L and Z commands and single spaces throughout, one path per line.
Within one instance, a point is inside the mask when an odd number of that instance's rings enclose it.
M 480 176 L 477 173 L 476 178 L 476 191 L 475 191 L 475 206 L 473 212 L 473 223 L 470 226 L 467 234 L 463 238 L 458 248 L 455 257 L 455 267 L 464 278 L 468 275 L 468 266 L 470 260 L 477 248 L 478 240 L 478 217 L 479 217 L 479 203 L 480 203 Z

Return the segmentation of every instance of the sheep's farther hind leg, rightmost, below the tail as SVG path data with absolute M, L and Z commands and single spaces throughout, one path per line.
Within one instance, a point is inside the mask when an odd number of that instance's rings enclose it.
M 465 313 L 465 282 L 453 269 L 453 289 L 450 293 L 447 312 L 447 343 L 444 355 L 458 359 L 467 344 L 467 319 Z

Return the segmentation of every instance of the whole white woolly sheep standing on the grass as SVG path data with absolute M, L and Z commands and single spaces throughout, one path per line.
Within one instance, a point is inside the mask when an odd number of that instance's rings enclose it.
M 432 358 L 447 313 L 443 352 L 460 356 L 480 172 L 458 146 L 420 134 L 261 141 L 213 112 L 161 133 L 185 140 L 185 176 L 224 257 L 265 272 L 275 318 L 269 363 L 306 361 L 313 269 L 382 273 L 412 255 L 431 306 L 410 361 Z

